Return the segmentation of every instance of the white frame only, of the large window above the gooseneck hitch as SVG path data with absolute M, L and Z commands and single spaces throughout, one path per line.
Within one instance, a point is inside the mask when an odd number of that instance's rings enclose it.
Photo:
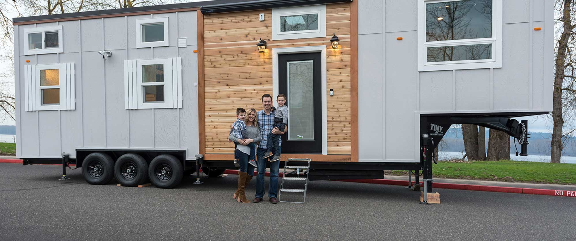
M 492 0 L 492 37 L 426 42 L 426 4 L 446 0 L 418 0 L 418 71 L 502 68 L 502 0 Z M 469 1 L 469 0 L 450 0 Z M 492 44 L 492 59 L 427 62 L 427 48 Z

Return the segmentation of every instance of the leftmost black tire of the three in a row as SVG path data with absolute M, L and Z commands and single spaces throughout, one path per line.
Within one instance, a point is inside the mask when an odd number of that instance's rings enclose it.
M 114 177 L 114 161 L 108 154 L 90 153 L 82 162 L 82 176 L 92 185 L 105 185 Z

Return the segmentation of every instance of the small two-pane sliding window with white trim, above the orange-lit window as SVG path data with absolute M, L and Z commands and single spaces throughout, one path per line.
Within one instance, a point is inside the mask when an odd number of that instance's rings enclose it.
M 62 53 L 62 26 L 24 29 L 24 55 Z

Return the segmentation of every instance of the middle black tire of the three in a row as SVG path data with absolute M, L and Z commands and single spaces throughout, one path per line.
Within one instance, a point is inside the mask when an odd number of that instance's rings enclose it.
M 126 153 L 116 160 L 114 176 L 123 186 L 138 186 L 148 180 L 148 163 L 134 153 Z

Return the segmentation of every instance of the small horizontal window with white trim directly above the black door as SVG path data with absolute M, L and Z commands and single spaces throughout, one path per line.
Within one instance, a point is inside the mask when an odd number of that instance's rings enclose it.
M 326 37 L 326 5 L 272 9 L 272 40 Z

